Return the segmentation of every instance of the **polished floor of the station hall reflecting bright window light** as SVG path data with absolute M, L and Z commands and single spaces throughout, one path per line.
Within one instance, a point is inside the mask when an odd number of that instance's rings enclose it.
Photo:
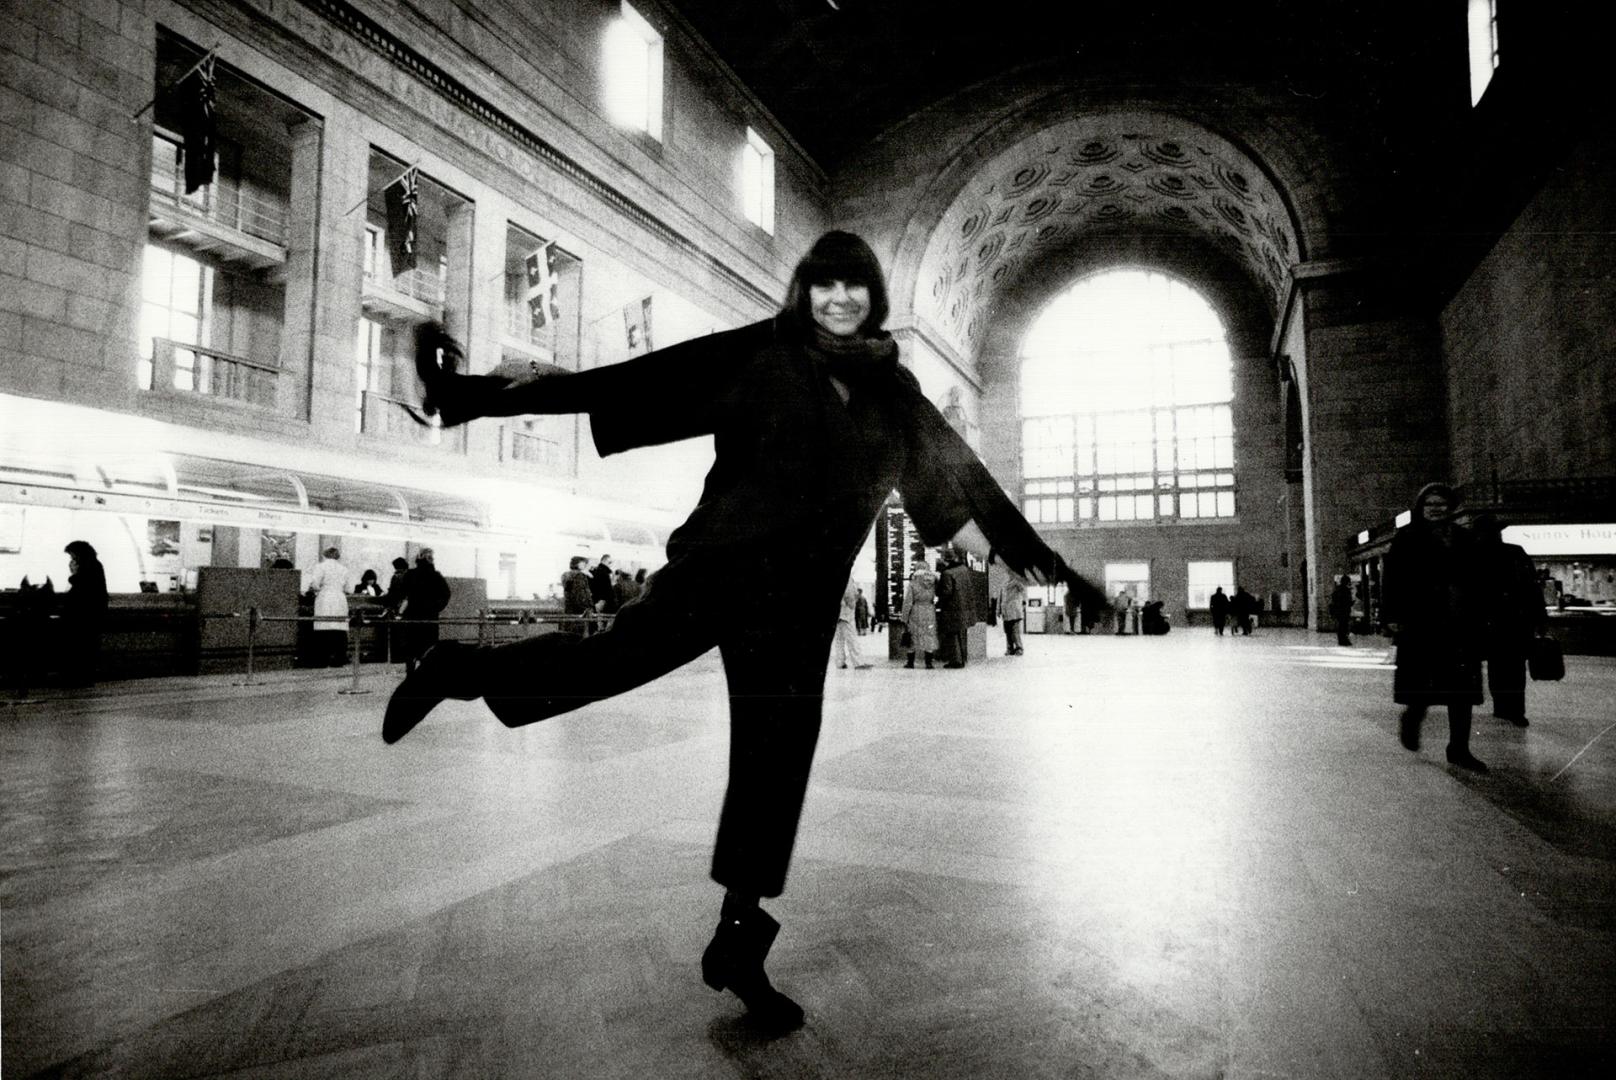
M 989 634 L 992 652 L 1002 637 Z M 866 639 L 866 643 L 874 639 Z M 519 732 L 396 669 L 0 708 L 5 1077 L 1611 1077 L 1616 660 L 1398 745 L 1374 639 L 832 671 L 771 957 L 711 993 L 716 656 Z

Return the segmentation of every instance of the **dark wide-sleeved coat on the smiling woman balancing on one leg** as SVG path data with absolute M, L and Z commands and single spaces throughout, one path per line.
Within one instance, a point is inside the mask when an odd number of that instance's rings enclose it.
M 713 469 L 669 559 L 787 545 L 850 566 L 895 488 L 928 545 L 974 519 L 1010 569 L 1054 577 L 1060 564 L 908 369 L 873 362 L 844 403 L 785 317 L 511 393 L 527 411 L 588 412 L 603 456 L 713 437 Z

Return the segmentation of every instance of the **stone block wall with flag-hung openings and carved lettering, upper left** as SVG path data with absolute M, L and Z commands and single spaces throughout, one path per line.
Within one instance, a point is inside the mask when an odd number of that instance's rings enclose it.
M 507 221 L 559 239 L 583 260 L 585 320 L 661 296 L 667 317 L 656 343 L 671 344 L 680 330 L 769 314 L 824 226 L 823 175 L 656 5 L 646 15 L 666 39 L 664 137 L 614 126 L 600 70 L 604 27 L 616 15 L 616 3 L 559 0 L 517 8 L 491 0 L 5 5 L 0 393 L 225 428 L 288 448 L 499 474 L 493 427 L 473 430 L 464 453 L 381 445 L 354 430 L 365 223 L 356 209 L 377 152 L 420 163 L 478 218 L 451 226 L 459 230 L 452 270 L 480 275 L 470 285 L 451 281 L 469 296 L 470 322 L 451 312 L 451 325 L 461 320 L 470 331 L 473 370 L 499 359 L 493 309 L 503 286 L 483 278 L 503 270 Z M 367 18 L 396 47 L 380 49 L 357 31 Z M 280 359 L 273 409 L 136 385 L 154 113 L 133 115 L 160 89 L 160 34 L 197 50 L 218 45 L 233 79 L 307 118 L 288 136 L 292 233 L 276 272 L 283 285 L 267 291 L 283 306 L 280 343 L 257 335 L 250 349 L 252 359 Z M 772 236 L 740 210 L 747 126 L 776 152 Z M 250 149 L 246 158 L 255 160 Z M 262 304 L 252 307 L 262 317 Z M 236 351 L 241 341 L 213 344 Z M 587 443 L 583 453 L 591 453 Z M 575 475 L 575 466 L 567 472 Z

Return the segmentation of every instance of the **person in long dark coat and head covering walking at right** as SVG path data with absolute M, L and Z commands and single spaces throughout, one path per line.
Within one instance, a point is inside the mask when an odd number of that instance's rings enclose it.
M 1446 483 L 1414 496 L 1412 517 L 1387 551 L 1380 589 L 1387 627 L 1398 647 L 1393 700 L 1403 705 L 1398 736 L 1419 750 L 1432 705 L 1448 708 L 1448 761 L 1485 773 L 1471 753 L 1471 711 L 1482 703 L 1483 593 L 1475 540 L 1454 524 L 1459 498 Z

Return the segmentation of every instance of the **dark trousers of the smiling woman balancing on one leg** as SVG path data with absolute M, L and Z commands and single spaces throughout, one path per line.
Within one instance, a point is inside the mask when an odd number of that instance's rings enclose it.
M 758 598 L 764 618 L 737 621 L 713 601 L 722 580 L 790 584 Z M 541 634 L 459 653 L 472 664 L 465 686 L 480 690 L 501 723 L 520 728 L 632 690 L 718 645 L 729 682 L 730 745 L 713 878 L 742 896 L 779 896 L 819 739 L 845 582 L 845 566 L 675 559 L 606 631 Z

